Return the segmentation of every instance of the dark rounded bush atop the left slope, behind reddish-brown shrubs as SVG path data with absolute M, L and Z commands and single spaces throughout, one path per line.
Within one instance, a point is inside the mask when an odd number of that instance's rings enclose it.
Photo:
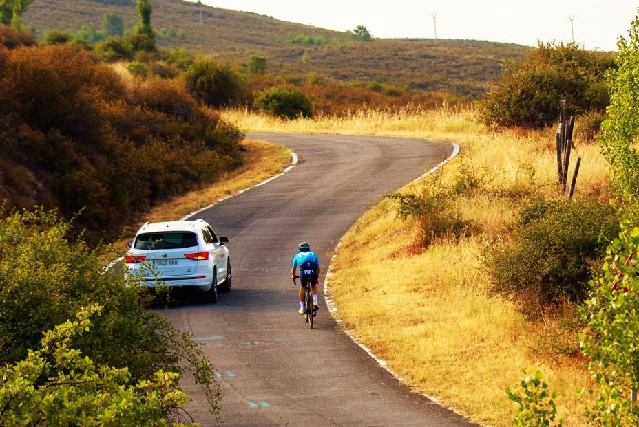
M 242 91 L 238 73 L 209 59 L 195 61 L 182 78 L 189 93 L 211 107 L 232 105 Z

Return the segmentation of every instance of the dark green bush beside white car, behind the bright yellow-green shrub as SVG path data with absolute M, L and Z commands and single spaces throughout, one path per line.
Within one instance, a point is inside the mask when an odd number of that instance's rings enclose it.
M 74 349 L 97 364 L 127 368 L 134 382 L 156 382 L 158 370 L 189 372 L 217 410 L 213 370 L 191 335 L 145 310 L 144 289 L 127 283 L 121 267 L 104 271 L 111 248 L 90 250 L 69 237 L 70 223 L 54 211 L 0 220 L 0 364 L 28 357 L 42 331 L 98 304 L 101 316 L 74 339 Z

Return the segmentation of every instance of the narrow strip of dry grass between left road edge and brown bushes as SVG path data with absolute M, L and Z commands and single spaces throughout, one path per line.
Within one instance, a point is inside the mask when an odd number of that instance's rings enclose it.
M 242 146 L 242 166 L 226 173 L 215 184 L 191 191 L 185 195 L 174 197 L 163 204 L 155 206 L 146 215 L 140 216 L 140 223 L 145 221 L 175 221 L 206 206 L 216 203 L 224 197 L 234 195 L 240 190 L 251 188 L 281 173 L 291 162 L 291 151 L 286 147 L 259 140 L 244 140 Z M 136 230 L 128 230 L 126 239 L 116 243 L 116 248 L 124 250 Z

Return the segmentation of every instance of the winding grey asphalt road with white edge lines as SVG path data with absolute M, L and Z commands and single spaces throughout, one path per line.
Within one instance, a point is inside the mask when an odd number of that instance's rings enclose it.
M 165 315 L 205 344 L 222 390 L 225 426 L 466 426 L 468 421 L 402 386 L 328 313 L 311 330 L 297 314 L 290 278 L 297 243 L 320 255 L 322 281 L 337 241 L 379 195 L 407 184 L 452 152 L 451 144 L 399 138 L 276 135 L 289 173 L 200 212 L 231 237 L 233 289 L 215 305 L 174 305 Z M 370 260 L 375 262 L 375 260 Z M 321 288 L 322 286 L 320 286 Z M 212 425 L 197 388 L 189 412 Z

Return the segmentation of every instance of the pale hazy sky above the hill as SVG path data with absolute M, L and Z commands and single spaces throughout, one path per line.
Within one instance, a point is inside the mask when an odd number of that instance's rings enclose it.
M 587 49 L 616 50 L 627 36 L 639 1 L 630 0 L 202 0 L 219 8 L 270 15 L 283 21 L 349 30 L 366 25 L 376 37 L 434 36 L 536 45 L 537 40 L 575 41 Z

